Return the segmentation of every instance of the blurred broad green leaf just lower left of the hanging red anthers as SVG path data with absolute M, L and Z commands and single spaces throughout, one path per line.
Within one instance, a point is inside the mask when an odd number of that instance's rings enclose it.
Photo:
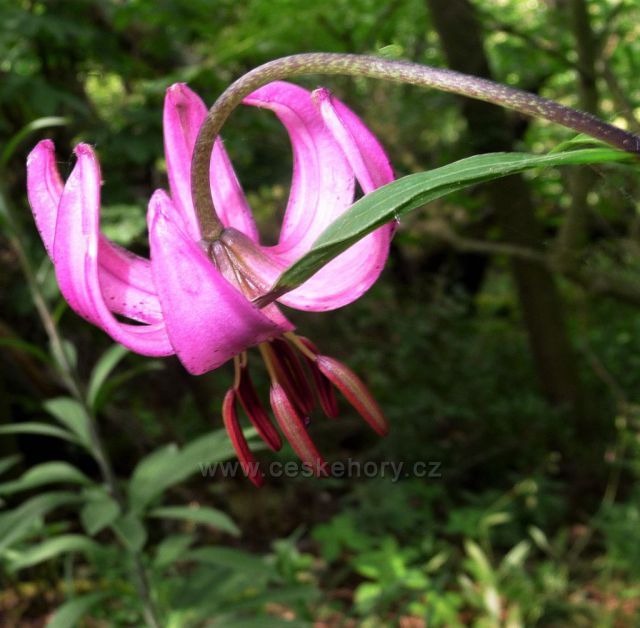
M 249 437 L 255 431 L 247 431 Z M 254 447 L 255 449 L 255 447 Z M 133 471 L 129 482 L 129 504 L 141 511 L 167 488 L 179 484 L 206 465 L 227 460 L 235 455 L 224 430 L 205 434 L 183 449 L 170 444 L 143 458 Z

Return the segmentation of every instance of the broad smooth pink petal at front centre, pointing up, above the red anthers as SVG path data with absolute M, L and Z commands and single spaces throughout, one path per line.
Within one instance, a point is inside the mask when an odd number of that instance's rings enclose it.
M 151 268 L 171 344 L 194 375 L 210 371 L 282 328 L 222 276 L 182 231 L 161 190 L 149 203 Z

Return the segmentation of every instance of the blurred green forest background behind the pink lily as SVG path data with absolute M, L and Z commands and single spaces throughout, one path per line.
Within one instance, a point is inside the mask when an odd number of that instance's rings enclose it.
M 365 297 L 287 312 L 363 376 L 391 423 L 378 440 L 342 404 L 339 420 L 310 428 L 327 458 L 421 462 L 431 477 L 272 478 L 256 490 L 180 458 L 147 478 L 156 510 L 123 516 L 81 447 L 11 427 L 59 429 L 51 400 L 66 394 L 17 239 L 82 381 L 111 346 L 66 307 L 34 227 L 24 163 L 38 139 L 55 140 L 64 176 L 75 143 L 96 147 L 103 230 L 145 254 L 147 199 L 167 187 L 170 84 L 211 104 L 279 56 L 371 53 L 491 76 L 638 131 L 636 0 L 2 0 L 0 18 L 0 625 L 86 612 L 86 625 L 140 625 L 122 553 L 134 537 L 162 625 L 640 623 L 640 186 L 620 166 L 546 169 L 432 203 L 402 220 Z M 297 82 L 358 112 L 398 176 L 572 137 L 435 91 Z M 50 116 L 66 123 L 16 136 Z M 223 136 L 274 241 L 286 133 L 247 107 Z M 194 378 L 174 358 L 127 355 L 105 370 L 96 411 L 123 485 L 151 452 L 157 462 L 218 439 L 231 458 L 218 431 L 230 368 Z M 289 447 L 256 455 L 294 459 Z M 74 493 L 89 500 L 80 511 L 50 497 Z M 171 516 L 175 504 L 206 516 Z

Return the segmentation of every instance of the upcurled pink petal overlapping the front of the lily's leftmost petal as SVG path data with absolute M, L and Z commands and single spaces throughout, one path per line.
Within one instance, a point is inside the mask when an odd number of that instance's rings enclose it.
M 90 146 L 79 144 L 78 158 L 58 206 L 53 264 L 69 305 L 114 340 L 143 355 L 173 353 L 164 323 L 128 325 L 116 320 L 99 279 L 100 167 Z

